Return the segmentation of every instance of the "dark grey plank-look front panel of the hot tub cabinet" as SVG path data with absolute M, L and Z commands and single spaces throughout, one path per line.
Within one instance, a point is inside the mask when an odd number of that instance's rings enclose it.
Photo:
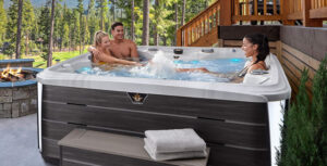
M 43 86 L 43 155 L 59 158 L 58 140 L 72 129 L 144 137 L 148 129 L 194 128 L 208 143 L 208 165 L 269 166 L 267 103 Z

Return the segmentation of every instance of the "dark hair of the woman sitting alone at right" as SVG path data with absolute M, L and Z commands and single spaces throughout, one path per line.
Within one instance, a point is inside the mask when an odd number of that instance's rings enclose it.
M 265 61 L 266 56 L 270 53 L 269 43 L 267 36 L 263 34 L 250 34 L 244 37 L 247 39 L 252 44 L 257 44 L 257 60 L 254 64 L 258 63 L 259 61 Z

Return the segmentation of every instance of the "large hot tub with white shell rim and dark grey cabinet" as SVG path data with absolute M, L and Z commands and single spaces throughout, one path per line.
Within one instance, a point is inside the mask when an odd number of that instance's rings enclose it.
M 168 59 L 244 58 L 234 48 L 138 47 L 142 58 L 161 50 Z M 179 48 L 180 49 L 180 48 Z M 194 128 L 210 146 L 208 165 L 275 165 L 279 124 L 291 88 L 275 55 L 268 74 L 245 82 L 108 77 L 75 73 L 89 54 L 37 75 L 39 150 L 59 158 L 58 140 L 76 127 L 143 137 L 148 129 Z M 128 142 L 126 142 L 128 143 Z

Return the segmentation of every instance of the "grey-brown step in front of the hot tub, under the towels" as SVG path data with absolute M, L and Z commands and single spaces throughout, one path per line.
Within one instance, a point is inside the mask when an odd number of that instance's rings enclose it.
M 207 157 L 156 162 L 144 150 L 142 138 L 86 129 L 72 130 L 58 144 L 62 166 L 206 166 L 208 161 Z

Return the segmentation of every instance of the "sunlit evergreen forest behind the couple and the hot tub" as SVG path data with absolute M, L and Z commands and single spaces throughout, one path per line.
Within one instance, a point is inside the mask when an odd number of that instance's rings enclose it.
M 177 29 L 213 1 L 46 0 L 39 5 L 31 0 L 0 0 L 0 55 L 38 55 L 47 60 L 52 51 L 82 53 L 93 44 L 95 31 L 110 34 L 114 22 L 124 24 L 125 38 L 137 46 L 174 46 Z

